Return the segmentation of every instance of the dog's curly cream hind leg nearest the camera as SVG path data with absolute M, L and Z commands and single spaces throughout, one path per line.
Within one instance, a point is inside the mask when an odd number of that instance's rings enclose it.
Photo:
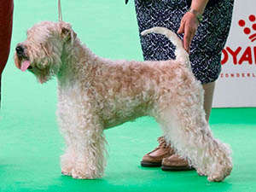
M 201 103 L 189 95 L 182 97 L 172 103 L 172 110 L 160 113 L 158 121 L 166 142 L 209 181 L 222 181 L 232 170 L 230 150 L 212 137 Z

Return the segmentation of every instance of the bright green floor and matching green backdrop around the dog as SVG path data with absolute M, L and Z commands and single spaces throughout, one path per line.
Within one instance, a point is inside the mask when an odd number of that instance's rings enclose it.
M 73 24 L 83 42 L 108 58 L 142 60 L 134 4 L 130 0 L 62 0 L 63 19 Z M 75 3 L 74 3 L 75 2 Z M 30 73 L 15 69 L 15 44 L 40 20 L 57 20 L 57 0 L 15 0 L 11 55 L 3 73 L 0 112 L 0 192 L 7 191 L 256 191 L 256 108 L 213 109 L 215 137 L 230 143 L 234 170 L 223 183 L 208 183 L 192 172 L 143 168 L 143 154 L 154 148 L 161 132 L 153 119 L 106 131 L 108 167 L 98 180 L 61 176 L 63 140 L 55 123 L 56 82 L 37 84 Z M 129 128 L 129 129 L 128 129 Z

